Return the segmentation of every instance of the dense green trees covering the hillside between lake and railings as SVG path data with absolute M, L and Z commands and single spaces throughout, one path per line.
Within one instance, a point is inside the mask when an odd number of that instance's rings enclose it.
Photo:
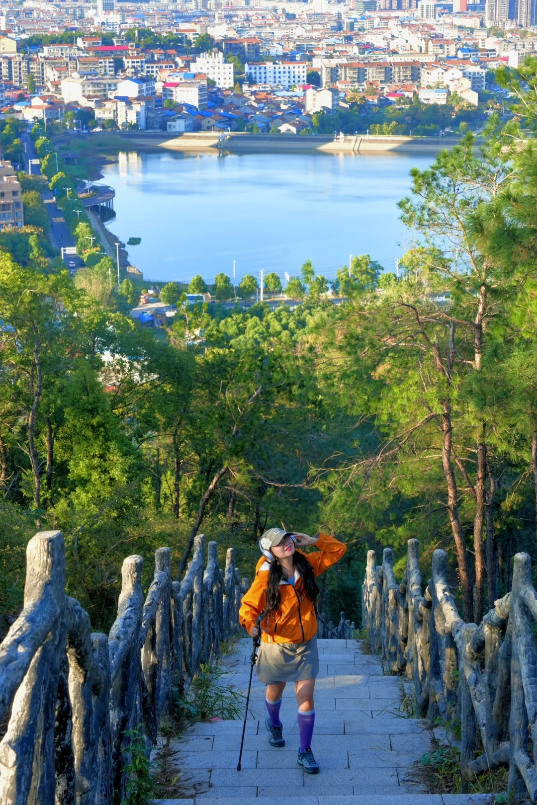
M 503 76 L 520 102 L 479 158 L 469 133 L 412 172 L 402 278 L 356 258 L 341 307 L 307 262 L 295 311 L 180 307 L 143 329 L 105 266 L 73 281 L 0 242 L 4 616 L 38 527 L 63 530 L 68 591 L 106 629 L 125 555 L 148 577 L 168 544 L 184 568 L 203 531 L 251 578 L 283 522 L 349 544 L 329 617 L 359 617 L 368 546 L 394 547 L 400 572 L 417 537 L 424 570 L 448 551 L 461 614 L 481 619 L 514 553 L 537 558 L 537 141 L 519 128 L 536 73 Z

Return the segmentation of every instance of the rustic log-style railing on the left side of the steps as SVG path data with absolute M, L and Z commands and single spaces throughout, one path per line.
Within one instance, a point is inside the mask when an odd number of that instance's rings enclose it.
M 246 580 L 233 548 L 225 572 L 217 543 L 196 537 L 182 581 L 172 581 L 171 552 L 155 553 L 155 576 L 143 597 L 141 556 L 122 567 L 118 617 L 109 636 L 91 631 L 89 615 L 65 594 L 60 531 L 42 531 L 27 547 L 24 608 L 0 645 L 0 805 L 111 805 L 122 796 L 130 762 L 129 731 L 148 747 L 171 703 L 188 691 L 200 663 L 238 631 Z M 141 725 L 141 727 L 140 727 Z

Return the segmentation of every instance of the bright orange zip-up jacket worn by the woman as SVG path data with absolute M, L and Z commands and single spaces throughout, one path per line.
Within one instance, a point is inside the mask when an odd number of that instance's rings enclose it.
M 337 539 L 329 537 L 323 531 L 318 535 L 317 553 L 304 554 L 312 565 L 313 572 L 320 576 L 341 557 L 345 555 L 347 546 Z M 303 553 L 303 551 L 300 551 Z M 252 586 L 242 599 L 239 609 L 239 621 L 250 632 L 252 626 L 266 605 L 266 586 L 268 584 L 271 565 L 263 557 L 259 559 L 255 568 L 255 578 Z M 299 600 L 297 591 L 304 590 L 300 576 L 295 577 L 295 585 L 280 582 L 282 604 L 279 613 L 271 615 L 268 622 L 261 621 L 262 641 L 275 643 L 301 643 L 311 640 L 317 634 L 317 617 L 312 601 L 307 597 Z

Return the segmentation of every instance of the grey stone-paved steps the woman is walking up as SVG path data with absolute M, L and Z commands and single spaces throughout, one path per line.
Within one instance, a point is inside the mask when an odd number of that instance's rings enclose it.
M 362 654 L 354 640 L 320 640 L 316 724 L 312 749 L 320 774 L 304 774 L 296 762 L 299 732 L 294 685 L 283 694 L 286 746 L 267 741 L 265 685 L 254 674 L 242 770 L 237 771 L 242 721 L 193 725 L 170 741 L 168 771 L 180 799 L 159 805 L 477 805 L 491 795 L 431 795 L 419 782 L 415 762 L 432 733 L 401 708 L 403 680 L 384 676 L 378 657 Z M 251 641 L 221 660 L 230 687 L 244 691 Z M 177 789 L 176 789 L 177 790 Z

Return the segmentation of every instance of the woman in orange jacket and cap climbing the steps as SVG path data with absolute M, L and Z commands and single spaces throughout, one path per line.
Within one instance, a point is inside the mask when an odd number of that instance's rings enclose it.
M 305 554 L 297 550 L 308 545 L 315 545 L 318 551 Z M 281 528 L 265 531 L 259 547 L 262 559 L 254 583 L 242 599 L 239 620 L 250 638 L 255 638 L 255 623 L 262 617 L 256 669 L 259 681 L 267 686 L 268 740 L 271 746 L 285 746 L 279 708 L 284 687 L 294 682 L 300 733 L 297 762 L 308 774 L 318 774 L 319 764 L 312 753 L 313 690 L 319 673 L 315 609 L 319 588 L 315 578 L 336 564 L 347 547 L 323 531 L 310 537 Z

